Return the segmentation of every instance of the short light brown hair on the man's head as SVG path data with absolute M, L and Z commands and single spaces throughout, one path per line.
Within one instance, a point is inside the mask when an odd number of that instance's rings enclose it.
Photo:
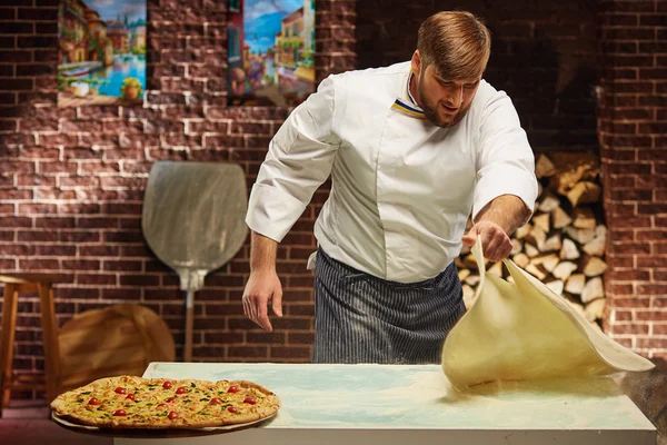
M 466 11 L 442 11 L 419 27 L 417 49 L 421 70 L 432 65 L 445 79 L 484 73 L 491 53 L 491 34 L 481 19 Z

